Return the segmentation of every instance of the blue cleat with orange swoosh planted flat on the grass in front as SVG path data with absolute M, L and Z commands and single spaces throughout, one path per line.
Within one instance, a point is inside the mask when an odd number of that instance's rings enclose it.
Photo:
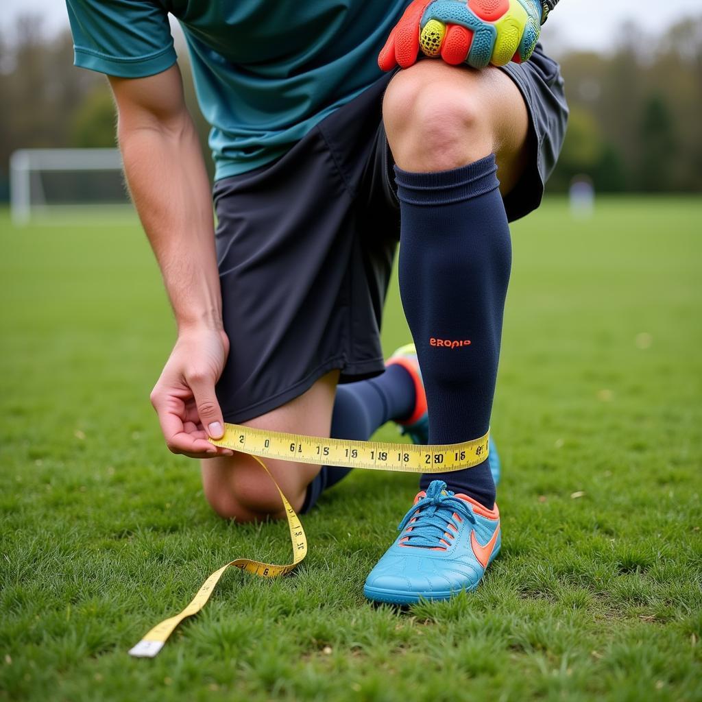
M 398 527 L 395 543 L 366 578 L 369 600 L 412 604 L 448 600 L 477 588 L 500 551 L 500 512 L 446 491 L 434 480 L 420 492 Z

